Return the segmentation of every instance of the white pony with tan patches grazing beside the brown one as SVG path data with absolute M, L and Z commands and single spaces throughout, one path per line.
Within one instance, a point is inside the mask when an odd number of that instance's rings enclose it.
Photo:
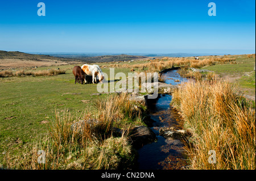
M 97 83 L 97 76 L 100 82 L 103 81 L 104 75 L 100 66 L 84 64 L 81 68 L 86 75 L 92 76 L 92 83 Z

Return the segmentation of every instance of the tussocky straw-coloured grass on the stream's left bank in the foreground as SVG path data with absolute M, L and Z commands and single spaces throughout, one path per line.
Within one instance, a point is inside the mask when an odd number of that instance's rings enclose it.
M 96 115 L 81 113 L 75 119 L 67 111 L 55 112 L 47 137 L 38 138 L 32 148 L 11 156 L 6 151 L 3 169 L 129 169 L 134 164 L 129 142 L 129 127 L 121 136 L 112 134 L 113 122 L 133 112 L 126 107 L 127 95 L 110 96 L 96 102 Z M 122 106 L 121 106 L 122 105 Z M 131 110 L 129 110 L 131 108 Z M 90 121 L 88 121 L 90 120 Z M 81 123 L 81 124 L 76 124 Z M 77 126 L 73 126 L 76 124 Z M 45 153 L 45 163 L 38 163 L 39 150 Z

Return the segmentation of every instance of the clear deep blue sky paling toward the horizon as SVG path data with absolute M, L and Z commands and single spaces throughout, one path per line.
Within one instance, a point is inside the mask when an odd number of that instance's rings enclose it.
M 255 1 L 1 0 L 0 50 L 255 53 Z

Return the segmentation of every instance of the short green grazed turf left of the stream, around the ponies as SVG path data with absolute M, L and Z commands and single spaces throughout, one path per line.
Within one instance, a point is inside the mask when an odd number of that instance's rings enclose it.
M 73 119 L 81 113 L 96 112 L 93 103 L 108 94 L 97 93 L 97 84 L 76 84 L 72 73 L 74 65 L 58 66 L 68 69 L 66 74 L 51 77 L 9 77 L 0 79 L 0 158 L 5 149 L 31 145 L 38 136 L 48 131 L 48 123 L 55 110 L 68 111 Z M 39 70 L 55 67 L 43 67 Z M 109 74 L 109 69 L 103 69 Z M 128 69 L 115 69 L 115 73 Z M 109 79 L 111 79 L 109 77 Z

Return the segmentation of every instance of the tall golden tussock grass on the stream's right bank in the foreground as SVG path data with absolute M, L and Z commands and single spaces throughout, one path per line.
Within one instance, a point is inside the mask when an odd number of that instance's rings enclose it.
M 185 127 L 194 134 L 187 148 L 192 169 L 255 169 L 255 110 L 225 81 L 194 81 L 173 93 Z M 209 163 L 208 151 L 216 151 Z

